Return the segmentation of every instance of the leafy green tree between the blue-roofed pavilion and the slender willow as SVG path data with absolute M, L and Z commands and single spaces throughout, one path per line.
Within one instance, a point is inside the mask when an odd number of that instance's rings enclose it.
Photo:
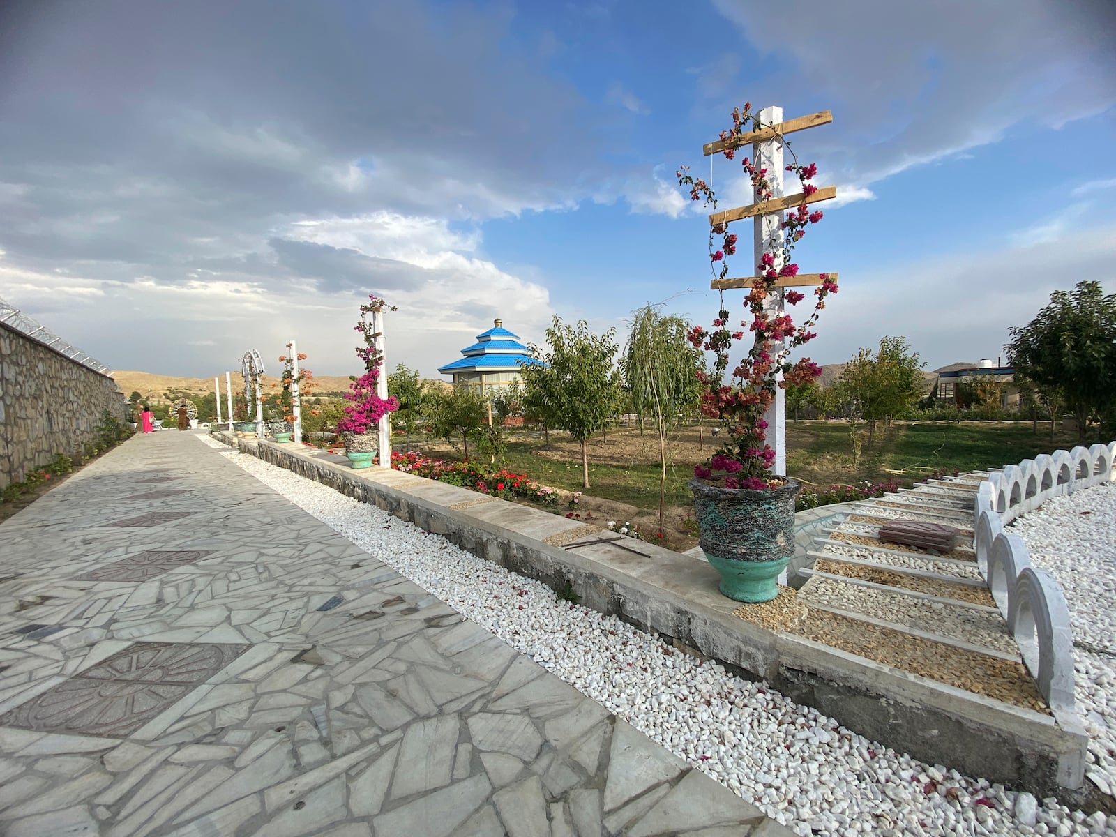
M 566 325 L 556 315 L 547 329 L 549 352 L 531 346 L 531 355 L 547 366 L 525 365 L 522 376 L 535 405 L 550 426 L 568 431 L 581 444 L 581 482 L 589 488 L 588 440 L 616 415 L 620 403 L 619 374 L 613 364 L 616 329 L 603 335 L 585 320 Z M 532 389 L 533 387 L 533 389 Z

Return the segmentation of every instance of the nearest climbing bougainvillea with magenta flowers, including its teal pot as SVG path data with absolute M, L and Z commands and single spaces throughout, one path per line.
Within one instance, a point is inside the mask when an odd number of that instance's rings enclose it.
M 771 127 L 761 125 L 750 104 L 743 109 L 735 108 L 732 121 L 732 128 L 721 133 L 722 140 Z M 798 175 L 807 195 L 812 194 L 817 187 L 809 181 L 817 174 L 817 166 L 801 165 L 786 138 L 777 135 L 777 140 L 792 160 L 787 171 Z M 731 147 L 723 153 L 729 160 L 734 156 Z M 741 165 L 751 180 L 757 202 L 771 199 L 767 169 L 758 167 L 748 157 Z M 677 176 L 680 185 L 690 187 L 692 200 L 703 200 L 715 210 L 715 194 L 704 181 L 691 176 L 686 167 L 680 169 Z M 776 453 L 767 442 L 768 423 L 763 415 L 775 403 L 776 387 L 812 381 L 821 373 L 808 357 L 791 364 L 788 356 L 814 339 L 816 335 L 810 328 L 825 308 L 826 297 L 837 292 L 837 285 L 827 275 L 820 275 L 822 283 L 814 291 L 814 311 L 798 326 L 789 312 L 780 312 L 770 302 L 778 292 L 778 280 L 798 273 L 798 266 L 790 260 L 795 244 L 809 224 L 820 220 L 821 213 L 810 212 L 806 204 L 787 213 L 757 264 L 759 278 L 744 298 L 744 317 L 739 320 L 739 329 L 722 291 L 713 327 L 706 330 L 695 326 L 690 333 L 690 341 L 713 353 L 715 358 L 712 374 L 699 373 L 705 387 L 701 396 L 702 414 L 719 420 L 724 430 L 721 446 L 706 463 L 694 469 L 694 479 L 690 481 L 699 541 L 709 562 L 721 573 L 721 593 L 738 602 L 775 598 L 779 574 L 795 554 L 795 496 L 801 484 L 771 473 Z M 711 227 L 709 249 L 714 277 L 724 279 L 729 272 L 728 257 L 737 251 L 737 235 L 729 232 L 728 223 Z M 785 299 L 796 306 L 805 296 L 788 290 Z M 745 353 L 731 366 L 730 374 L 730 355 L 735 344 L 743 344 Z

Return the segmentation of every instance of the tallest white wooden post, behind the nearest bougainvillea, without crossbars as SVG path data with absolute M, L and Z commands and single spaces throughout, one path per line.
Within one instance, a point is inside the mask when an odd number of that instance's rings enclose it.
M 760 122 L 763 125 L 775 125 L 782 122 L 782 108 L 781 107 L 764 107 L 759 112 Z M 778 137 L 767 140 L 759 143 L 752 143 L 752 160 L 756 163 L 757 169 L 767 169 L 767 181 L 768 189 L 771 192 L 770 200 L 777 198 L 782 198 L 782 143 Z M 763 195 L 754 195 L 756 203 L 767 200 Z M 767 215 L 757 215 L 754 219 L 754 252 L 756 252 L 756 264 L 760 264 L 760 260 L 763 258 L 764 253 L 771 253 L 775 257 L 775 269 L 778 271 L 782 267 L 782 242 L 783 242 L 783 229 L 782 212 L 772 212 Z M 762 275 L 762 270 L 757 271 Z M 775 288 L 771 291 L 771 296 L 764 300 L 763 307 L 767 309 L 768 317 L 781 317 L 785 310 L 786 290 L 783 288 Z M 776 346 L 776 350 L 782 347 L 785 341 Z M 782 381 L 782 373 L 778 373 L 778 381 Z M 771 464 L 771 470 L 777 474 L 787 473 L 787 397 L 786 391 L 781 386 L 777 386 L 775 391 L 775 403 L 768 407 L 767 413 L 763 414 L 767 420 L 767 441 L 771 448 L 775 449 L 775 462 Z

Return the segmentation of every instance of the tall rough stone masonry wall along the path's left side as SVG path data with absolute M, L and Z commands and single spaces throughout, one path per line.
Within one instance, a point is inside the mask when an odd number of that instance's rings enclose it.
M 106 410 L 126 417 L 113 378 L 0 324 L 0 489 L 58 453 L 80 453 Z

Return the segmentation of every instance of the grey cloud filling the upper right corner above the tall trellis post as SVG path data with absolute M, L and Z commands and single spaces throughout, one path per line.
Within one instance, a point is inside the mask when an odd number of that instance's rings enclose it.
M 1020 124 L 1059 129 L 1116 104 L 1109 0 L 787 0 L 792 38 L 772 38 L 750 0 L 714 7 L 761 61 L 783 65 L 758 86 L 758 105 L 802 102 L 805 90 L 809 109 L 834 112 L 810 143 L 843 181 L 870 185 Z

